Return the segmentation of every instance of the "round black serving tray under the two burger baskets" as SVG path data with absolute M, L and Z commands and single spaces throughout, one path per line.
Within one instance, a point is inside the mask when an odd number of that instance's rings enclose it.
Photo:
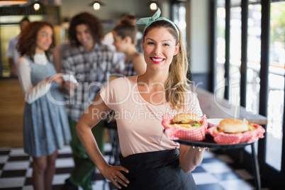
M 211 147 L 216 149 L 235 149 L 235 148 L 242 148 L 247 145 L 251 145 L 252 143 L 238 143 L 238 144 L 217 144 L 213 137 L 210 134 L 206 134 L 205 139 L 202 141 L 188 141 L 188 140 L 174 140 L 177 143 L 184 144 L 184 145 L 191 145 L 195 147 Z

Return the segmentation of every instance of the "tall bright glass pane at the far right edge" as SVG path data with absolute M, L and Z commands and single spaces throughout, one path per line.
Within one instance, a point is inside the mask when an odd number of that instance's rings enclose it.
M 281 171 L 284 111 L 285 2 L 271 4 L 266 162 Z

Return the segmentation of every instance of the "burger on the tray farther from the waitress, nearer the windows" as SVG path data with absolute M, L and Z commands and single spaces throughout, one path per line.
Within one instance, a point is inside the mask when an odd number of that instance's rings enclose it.
M 218 131 L 224 133 L 242 133 L 248 130 L 252 130 L 251 124 L 235 118 L 226 118 L 218 125 Z

